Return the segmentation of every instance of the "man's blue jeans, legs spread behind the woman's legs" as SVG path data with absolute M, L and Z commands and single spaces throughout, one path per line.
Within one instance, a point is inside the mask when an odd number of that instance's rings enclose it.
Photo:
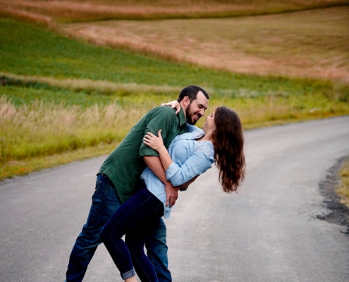
M 122 202 L 110 180 L 99 174 L 97 176 L 96 190 L 92 195 L 90 214 L 71 251 L 66 272 L 67 282 L 82 281 L 94 252 L 97 250 L 98 245 L 102 243 L 99 233 L 106 221 L 116 212 L 118 207 L 121 207 L 121 204 Z M 145 245 L 147 247 L 147 256 L 157 271 L 159 282 L 172 281 L 171 273 L 168 269 L 166 226 L 162 219 Z

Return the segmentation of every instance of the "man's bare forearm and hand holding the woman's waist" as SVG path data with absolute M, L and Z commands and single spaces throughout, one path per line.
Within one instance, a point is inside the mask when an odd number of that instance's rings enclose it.
M 164 167 L 162 166 L 159 157 L 144 156 L 143 159 L 155 176 L 164 183 L 166 191 L 166 207 L 172 207 L 173 204 L 176 204 L 179 188 L 173 187 L 171 182 L 166 179 Z

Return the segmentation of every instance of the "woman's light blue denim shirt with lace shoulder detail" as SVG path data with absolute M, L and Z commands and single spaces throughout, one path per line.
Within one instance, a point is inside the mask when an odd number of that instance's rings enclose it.
M 204 136 L 204 131 L 191 126 L 191 133 L 176 136 L 169 146 L 169 154 L 173 160 L 166 170 L 166 178 L 173 186 L 182 185 L 195 176 L 212 167 L 214 163 L 214 147 L 209 141 L 195 141 Z M 150 192 L 164 203 L 164 218 L 168 219 L 171 208 L 166 207 L 165 185 L 149 169 L 145 168 L 141 178 Z

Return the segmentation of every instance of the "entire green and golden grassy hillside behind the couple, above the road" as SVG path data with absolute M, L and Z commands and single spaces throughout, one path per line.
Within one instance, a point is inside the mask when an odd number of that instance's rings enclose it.
M 349 114 L 349 1 L 0 4 L 0 180 L 108 154 L 189 84 L 245 129 Z

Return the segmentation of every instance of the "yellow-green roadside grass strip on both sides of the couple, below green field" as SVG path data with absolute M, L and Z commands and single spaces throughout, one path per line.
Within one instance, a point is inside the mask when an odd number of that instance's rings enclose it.
M 108 154 L 146 111 L 159 104 L 157 95 L 149 95 L 121 97 L 109 104 L 88 107 L 39 100 L 15 106 L 3 96 L 0 98 L 0 180 Z M 245 130 L 348 114 L 347 103 L 322 94 L 235 99 L 213 95 L 207 113 L 221 105 L 238 112 Z M 204 118 L 197 126 L 203 123 Z

